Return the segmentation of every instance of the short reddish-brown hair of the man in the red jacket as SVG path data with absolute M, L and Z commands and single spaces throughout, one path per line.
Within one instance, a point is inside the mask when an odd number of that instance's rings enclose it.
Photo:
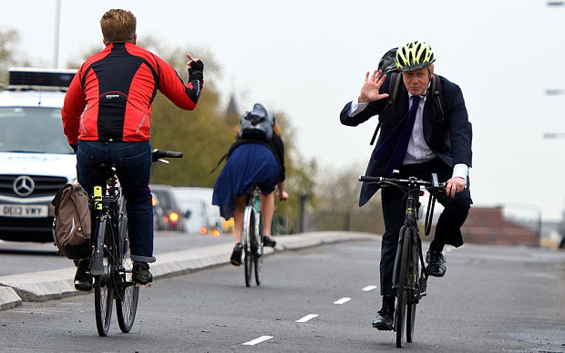
M 100 18 L 100 28 L 104 42 L 108 45 L 114 42 L 135 43 L 136 16 L 131 11 L 112 9 Z

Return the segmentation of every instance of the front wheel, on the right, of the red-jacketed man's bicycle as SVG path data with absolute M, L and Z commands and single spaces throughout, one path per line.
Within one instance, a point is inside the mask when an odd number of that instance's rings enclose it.
M 124 207 L 122 209 L 125 210 Z M 125 211 L 120 212 L 118 224 L 120 270 L 117 281 L 119 292 L 116 296 L 116 315 L 119 329 L 123 333 L 128 333 L 133 327 L 138 311 L 139 285 L 131 280 L 133 265 L 129 258 L 128 214 Z

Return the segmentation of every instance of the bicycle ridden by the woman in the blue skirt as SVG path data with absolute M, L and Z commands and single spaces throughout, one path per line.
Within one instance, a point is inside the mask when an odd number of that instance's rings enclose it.
M 261 191 L 254 185 L 247 196 L 243 211 L 243 232 L 241 234 L 243 247 L 243 263 L 245 264 L 245 286 L 252 286 L 252 272 L 255 268 L 255 283 L 261 286 L 262 282 L 262 217 L 261 217 Z

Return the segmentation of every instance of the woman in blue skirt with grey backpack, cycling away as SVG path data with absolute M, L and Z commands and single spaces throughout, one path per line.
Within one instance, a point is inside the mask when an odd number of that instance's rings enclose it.
M 247 195 L 253 185 L 261 190 L 261 213 L 263 220 L 263 244 L 274 247 L 276 241 L 271 235 L 272 214 L 274 213 L 274 190 L 278 187 L 280 201 L 288 199 L 284 191 L 286 171 L 284 167 L 284 145 L 282 134 L 276 120 L 262 104 L 256 103 L 247 111 L 246 118 L 272 121 L 267 124 L 268 137 L 261 134 L 242 134 L 238 130 L 236 141 L 228 152 L 228 160 L 214 184 L 212 204 L 220 207 L 220 213 L 226 220 L 234 217 L 235 245 L 231 254 L 231 264 L 241 265 L 241 234 L 243 230 L 243 212 Z

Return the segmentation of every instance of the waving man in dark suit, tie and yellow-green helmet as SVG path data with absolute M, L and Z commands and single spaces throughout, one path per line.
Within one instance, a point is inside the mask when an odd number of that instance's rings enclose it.
M 440 182 L 447 182 L 445 194 L 437 201 L 444 206 L 436 227 L 434 240 L 426 254 L 429 275 L 441 277 L 446 273 L 444 245 L 463 244 L 460 227 L 467 219 L 471 196 L 468 170 L 471 167 L 471 124 L 461 89 L 447 78 L 440 80 L 443 96 L 442 115 L 433 102 L 430 85 L 434 77 L 436 58 L 424 41 L 414 40 L 396 50 L 395 63 L 401 72 L 394 104 L 381 121 L 381 134 L 375 145 L 365 175 L 391 176 L 394 170 L 401 178 L 415 176 L 429 180 L 437 173 Z M 347 126 L 357 126 L 380 114 L 390 99 L 391 79 L 381 70 L 365 75 L 358 99 L 345 105 L 340 120 Z M 436 79 L 437 79 L 436 78 Z M 375 194 L 378 187 L 363 184 L 359 206 Z M 392 286 L 398 233 L 404 223 L 406 200 L 396 188 L 381 192 L 385 234 L 381 248 L 380 281 L 383 306 L 373 327 L 393 329 L 395 290 Z

